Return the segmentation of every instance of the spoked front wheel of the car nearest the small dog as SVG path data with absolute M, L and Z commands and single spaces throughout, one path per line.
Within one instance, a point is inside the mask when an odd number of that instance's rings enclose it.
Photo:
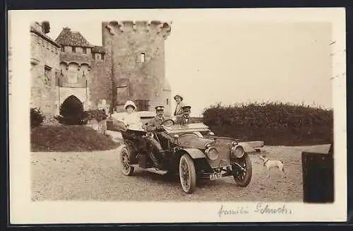
M 242 167 L 242 170 L 238 165 L 233 164 L 232 167 L 235 170 L 233 170 L 234 180 L 239 186 L 248 186 L 251 182 L 251 177 L 253 174 L 253 167 L 251 165 L 251 160 L 248 153 L 244 153 L 241 158 L 237 158 L 237 163 Z

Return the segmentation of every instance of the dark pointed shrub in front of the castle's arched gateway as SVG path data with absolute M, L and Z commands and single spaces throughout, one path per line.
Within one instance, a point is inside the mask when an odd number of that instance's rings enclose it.
M 76 96 L 71 95 L 60 106 L 60 115 L 55 117 L 60 124 L 83 125 L 87 124 L 83 103 Z

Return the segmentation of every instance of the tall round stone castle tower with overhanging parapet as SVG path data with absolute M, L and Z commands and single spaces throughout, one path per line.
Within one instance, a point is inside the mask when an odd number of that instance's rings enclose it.
M 138 111 L 154 111 L 164 105 L 171 115 L 172 91 L 165 78 L 164 40 L 171 23 L 160 21 L 111 21 L 102 23 L 106 64 L 112 75 L 112 106 L 124 110 L 133 100 Z

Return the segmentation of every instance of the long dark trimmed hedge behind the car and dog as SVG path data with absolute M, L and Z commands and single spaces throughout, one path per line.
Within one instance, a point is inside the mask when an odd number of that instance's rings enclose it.
M 333 109 L 283 102 L 211 105 L 203 122 L 219 136 L 266 145 L 333 143 Z

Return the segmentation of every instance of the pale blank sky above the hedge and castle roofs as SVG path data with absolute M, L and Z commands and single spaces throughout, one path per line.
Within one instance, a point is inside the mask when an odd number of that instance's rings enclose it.
M 102 45 L 102 23 L 50 20 L 49 36 L 80 31 Z M 166 78 L 192 114 L 222 102 L 282 101 L 333 107 L 330 23 L 174 20 L 165 40 Z M 174 107 L 174 105 L 173 105 Z

